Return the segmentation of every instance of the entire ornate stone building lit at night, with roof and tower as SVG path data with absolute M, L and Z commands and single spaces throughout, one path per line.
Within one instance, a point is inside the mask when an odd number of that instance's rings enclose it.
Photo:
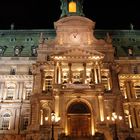
M 140 31 L 96 30 L 82 4 L 0 30 L 0 140 L 140 139 Z

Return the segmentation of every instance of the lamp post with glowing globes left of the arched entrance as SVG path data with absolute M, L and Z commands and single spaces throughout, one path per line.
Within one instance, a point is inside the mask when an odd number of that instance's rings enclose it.
M 57 123 L 60 120 L 60 117 L 57 117 L 55 112 L 51 112 L 51 122 L 52 122 L 52 135 L 51 135 L 51 140 L 54 140 L 54 124 Z

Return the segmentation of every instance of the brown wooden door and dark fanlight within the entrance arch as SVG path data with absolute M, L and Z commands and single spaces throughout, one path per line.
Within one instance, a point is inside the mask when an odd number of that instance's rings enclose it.
M 83 102 L 72 103 L 67 110 L 70 136 L 83 137 L 91 134 L 91 111 Z

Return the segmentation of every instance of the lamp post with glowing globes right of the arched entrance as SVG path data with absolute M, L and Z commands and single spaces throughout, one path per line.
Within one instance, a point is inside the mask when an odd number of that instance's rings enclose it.
M 122 120 L 122 116 L 118 116 L 116 112 L 112 112 L 111 117 L 107 116 L 107 120 L 111 120 L 114 122 L 114 135 L 113 140 L 119 140 L 118 133 L 117 133 L 117 120 Z

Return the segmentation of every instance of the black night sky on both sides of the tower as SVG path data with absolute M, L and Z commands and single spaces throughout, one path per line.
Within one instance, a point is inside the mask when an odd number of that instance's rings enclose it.
M 84 0 L 85 16 L 96 29 L 140 29 L 140 8 L 135 0 Z M 0 2 L 0 29 L 48 29 L 60 17 L 60 0 L 4 0 Z

